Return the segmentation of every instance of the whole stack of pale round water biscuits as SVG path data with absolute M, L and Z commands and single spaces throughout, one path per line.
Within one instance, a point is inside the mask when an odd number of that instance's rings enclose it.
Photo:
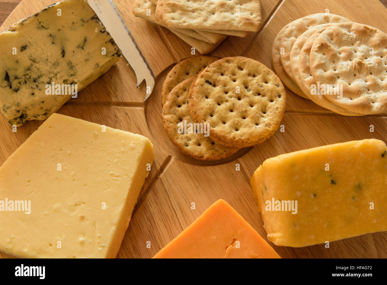
M 334 14 L 286 25 L 272 62 L 294 93 L 347 116 L 387 111 L 387 35 Z

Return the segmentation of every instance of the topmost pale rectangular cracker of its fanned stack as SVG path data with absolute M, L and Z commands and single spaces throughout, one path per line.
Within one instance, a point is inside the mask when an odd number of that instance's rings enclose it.
M 164 0 L 167 27 L 256 32 L 261 26 L 260 0 Z

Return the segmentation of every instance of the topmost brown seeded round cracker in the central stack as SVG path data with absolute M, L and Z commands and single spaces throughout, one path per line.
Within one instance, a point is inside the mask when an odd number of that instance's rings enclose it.
M 207 66 L 191 85 L 195 122 L 209 123 L 215 141 L 255 146 L 279 127 L 286 108 L 281 80 L 264 64 L 226 57 Z

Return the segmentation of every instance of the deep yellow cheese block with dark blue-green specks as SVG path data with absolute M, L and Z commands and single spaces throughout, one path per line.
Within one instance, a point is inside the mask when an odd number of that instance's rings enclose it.
M 387 147 L 377 139 L 269 158 L 250 183 L 267 238 L 277 246 L 387 230 Z

